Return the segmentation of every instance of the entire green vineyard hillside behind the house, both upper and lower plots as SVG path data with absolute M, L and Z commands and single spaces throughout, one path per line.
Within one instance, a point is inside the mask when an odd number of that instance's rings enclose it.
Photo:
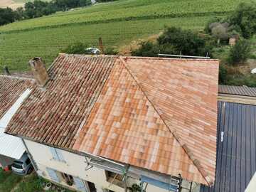
M 200 30 L 214 16 L 226 16 L 250 0 L 120 0 L 0 27 L 0 65 L 28 70 L 28 59 L 41 56 L 49 65 L 61 48 L 81 41 L 124 46 L 159 33 L 164 26 Z

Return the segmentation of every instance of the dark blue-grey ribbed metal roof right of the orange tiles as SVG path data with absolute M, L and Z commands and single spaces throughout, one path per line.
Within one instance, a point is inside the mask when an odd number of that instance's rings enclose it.
M 201 192 L 245 191 L 256 171 L 255 138 L 256 106 L 219 102 L 215 185 Z

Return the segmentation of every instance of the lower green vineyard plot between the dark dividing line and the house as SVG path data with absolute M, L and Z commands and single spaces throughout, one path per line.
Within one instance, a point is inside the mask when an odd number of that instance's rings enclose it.
M 28 70 L 28 60 L 34 56 L 44 58 L 47 65 L 58 55 L 60 49 L 68 44 L 80 41 L 88 47 L 97 47 L 102 37 L 105 47 L 118 47 L 159 33 L 164 26 L 183 26 L 198 30 L 203 28 L 207 19 L 198 18 L 162 18 L 143 21 L 120 21 L 91 25 L 63 26 L 60 28 L 41 28 L 32 31 L 2 34 L 0 36 L 0 63 L 8 65 L 10 70 Z M 102 33 L 104 31 L 104 33 Z

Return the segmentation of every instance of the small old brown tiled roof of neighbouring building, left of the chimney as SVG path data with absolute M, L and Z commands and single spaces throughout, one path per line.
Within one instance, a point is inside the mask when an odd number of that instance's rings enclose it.
M 31 88 L 33 80 L 0 75 L 0 119 L 14 105 L 27 88 Z

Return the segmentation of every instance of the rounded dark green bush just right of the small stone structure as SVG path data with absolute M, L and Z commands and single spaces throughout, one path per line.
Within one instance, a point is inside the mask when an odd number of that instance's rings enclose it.
M 247 40 L 238 41 L 235 46 L 230 48 L 230 53 L 228 55 L 228 63 L 238 64 L 245 62 L 247 58 L 250 57 L 251 45 Z

